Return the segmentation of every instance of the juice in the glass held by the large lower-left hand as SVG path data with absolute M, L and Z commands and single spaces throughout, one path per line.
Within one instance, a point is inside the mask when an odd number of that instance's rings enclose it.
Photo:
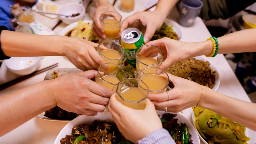
M 117 84 L 119 82 L 119 79 L 116 77 L 116 76 L 112 76 L 112 75 L 105 75 L 105 76 L 102 76 L 102 78 L 107 81 L 107 82 L 110 82 L 110 83 L 113 83 L 113 84 Z M 97 79 L 95 80 L 96 83 L 99 83 L 101 82 L 101 78 L 100 77 L 97 77 Z M 105 81 L 102 81 L 101 85 L 102 86 L 105 86 L 109 89 L 113 89 L 114 85 L 110 84 L 110 83 L 107 83 Z

